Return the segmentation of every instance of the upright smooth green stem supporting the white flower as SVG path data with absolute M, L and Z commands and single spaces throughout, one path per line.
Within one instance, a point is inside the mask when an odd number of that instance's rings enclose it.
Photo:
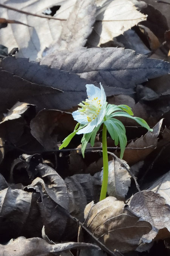
M 107 154 L 107 128 L 103 125 L 102 132 L 102 149 L 103 149 L 103 181 L 100 192 L 100 201 L 106 198 L 108 184 L 108 154 Z

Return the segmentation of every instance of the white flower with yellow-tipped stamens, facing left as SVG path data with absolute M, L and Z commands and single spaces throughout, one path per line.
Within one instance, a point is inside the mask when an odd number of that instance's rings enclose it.
M 106 112 L 106 94 L 100 83 L 100 89 L 94 85 L 86 85 L 87 97 L 85 101 L 79 104 L 81 108 L 72 113 L 74 120 L 84 124 L 77 134 L 90 133 L 103 120 Z

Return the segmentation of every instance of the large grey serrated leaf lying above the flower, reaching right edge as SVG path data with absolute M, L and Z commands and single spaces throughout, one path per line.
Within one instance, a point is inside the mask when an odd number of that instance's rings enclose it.
M 80 48 L 71 53 L 61 51 L 43 58 L 41 64 L 76 73 L 102 85 L 126 89 L 134 88 L 148 78 L 170 72 L 168 62 L 135 54 L 133 50 L 113 47 Z

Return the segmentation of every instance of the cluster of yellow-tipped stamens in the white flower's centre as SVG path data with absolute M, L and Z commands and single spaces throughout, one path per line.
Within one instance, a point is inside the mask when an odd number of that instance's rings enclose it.
M 82 101 L 82 103 L 78 104 L 81 108 L 78 108 L 78 111 L 82 115 L 87 116 L 87 121 L 91 122 L 92 120 L 97 118 L 100 110 L 102 108 L 101 101 L 98 97 L 93 98 L 93 100 L 86 99 L 86 101 Z

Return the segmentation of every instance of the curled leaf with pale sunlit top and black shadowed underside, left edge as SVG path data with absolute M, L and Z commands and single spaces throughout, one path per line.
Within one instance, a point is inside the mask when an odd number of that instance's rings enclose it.
M 16 143 L 23 134 L 24 126 L 36 115 L 36 106 L 25 102 L 17 102 L 0 122 L 0 137 Z

